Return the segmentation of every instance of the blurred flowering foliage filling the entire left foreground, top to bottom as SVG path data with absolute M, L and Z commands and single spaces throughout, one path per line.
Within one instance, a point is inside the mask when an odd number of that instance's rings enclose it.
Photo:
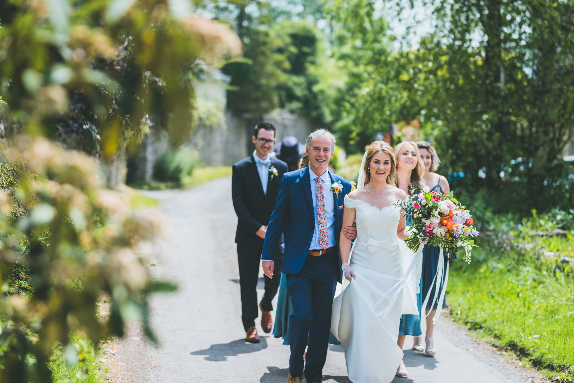
M 10 0 L 0 14 L 0 381 L 50 382 L 49 356 L 57 343 L 75 353 L 72 332 L 121 337 L 135 316 L 157 342 L 148 298 L 174 285 L 151 278 L 139 246 L 158 217 L 107 189 L 119 182 L 110 169 L 146 126 L 183 141 L 193 63 L 241 44 L 187 2 Z M 25 294 L 8 283 L 17 265 L 29 269 Z

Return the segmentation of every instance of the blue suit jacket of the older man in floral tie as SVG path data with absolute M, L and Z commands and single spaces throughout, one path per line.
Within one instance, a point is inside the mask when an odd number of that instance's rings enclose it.
M 331 175 L 331 182 L 340 181 L 343 185 L 342 192 L 339 192 L 335 200 L 335 240 L 339 248 L 339 235 L 343 222 L 343 201 L 345 196 L 351 192 L 351 184 L 346 179 L 336 174 Z M 332 193 L 330 190 L 325 192 Z M 334 197 L 334 196 L 333 196 Z M 265 235 L 263 252 L 261 259 L 273 260 L 277 241 L 281 236 L 283 226 L 287 223 L 285 230 L 288 236 L 285 238 L 285 253 L 283 257 L 283 272 L 285 274 L 296 274 L 301 270 L 307 252 L 313 239 L 315 231 L 315 210 L 313 209 L 313 198 L 311 196 L 311 177 L 309 177 L 309 167 L 285 173 L 279 187 L 277 204 Z M 339 263 L 341 257 L 339 256 Z M 339 273 L 339 282 L 342 274 Z

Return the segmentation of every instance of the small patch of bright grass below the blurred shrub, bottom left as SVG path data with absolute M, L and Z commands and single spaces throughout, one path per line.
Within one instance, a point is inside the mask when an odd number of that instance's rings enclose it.
M 100 371 L 94 346 L 86 339 L 72 337 L 72 346 L 66 350 L 56 347 L 49 367 L 56 383 L 100 383 L 106 380 Z

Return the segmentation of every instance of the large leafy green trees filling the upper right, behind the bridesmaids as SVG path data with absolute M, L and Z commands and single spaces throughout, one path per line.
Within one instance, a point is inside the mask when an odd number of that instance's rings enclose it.
M 377 20 L 370 2 L 336 6 L 339 19 L 363 9 L 354 14 L 356 24 Z M 374 100 L 379 104 L 373 120 L 387 111 L 395 121 L 420 120 L 434 132 L 431 139 L 446 170 L 465 174 L 457 187 L 472 193 L 485 189 L 497 209 L 544 209 L 564 197 L 572 201 L 572 185 L 564 183 L 559 161 L 574 126 L 572 2 L 417 6 L 433 9 L 436 28 L 418 49 L 401 46 L 384 68 L 367 76 L 397 100 L 395 112 Z M 370 50 L 374 44 L 361 36 L 362 49 Z M 369 85 L 359 81 L 353 89 Z

